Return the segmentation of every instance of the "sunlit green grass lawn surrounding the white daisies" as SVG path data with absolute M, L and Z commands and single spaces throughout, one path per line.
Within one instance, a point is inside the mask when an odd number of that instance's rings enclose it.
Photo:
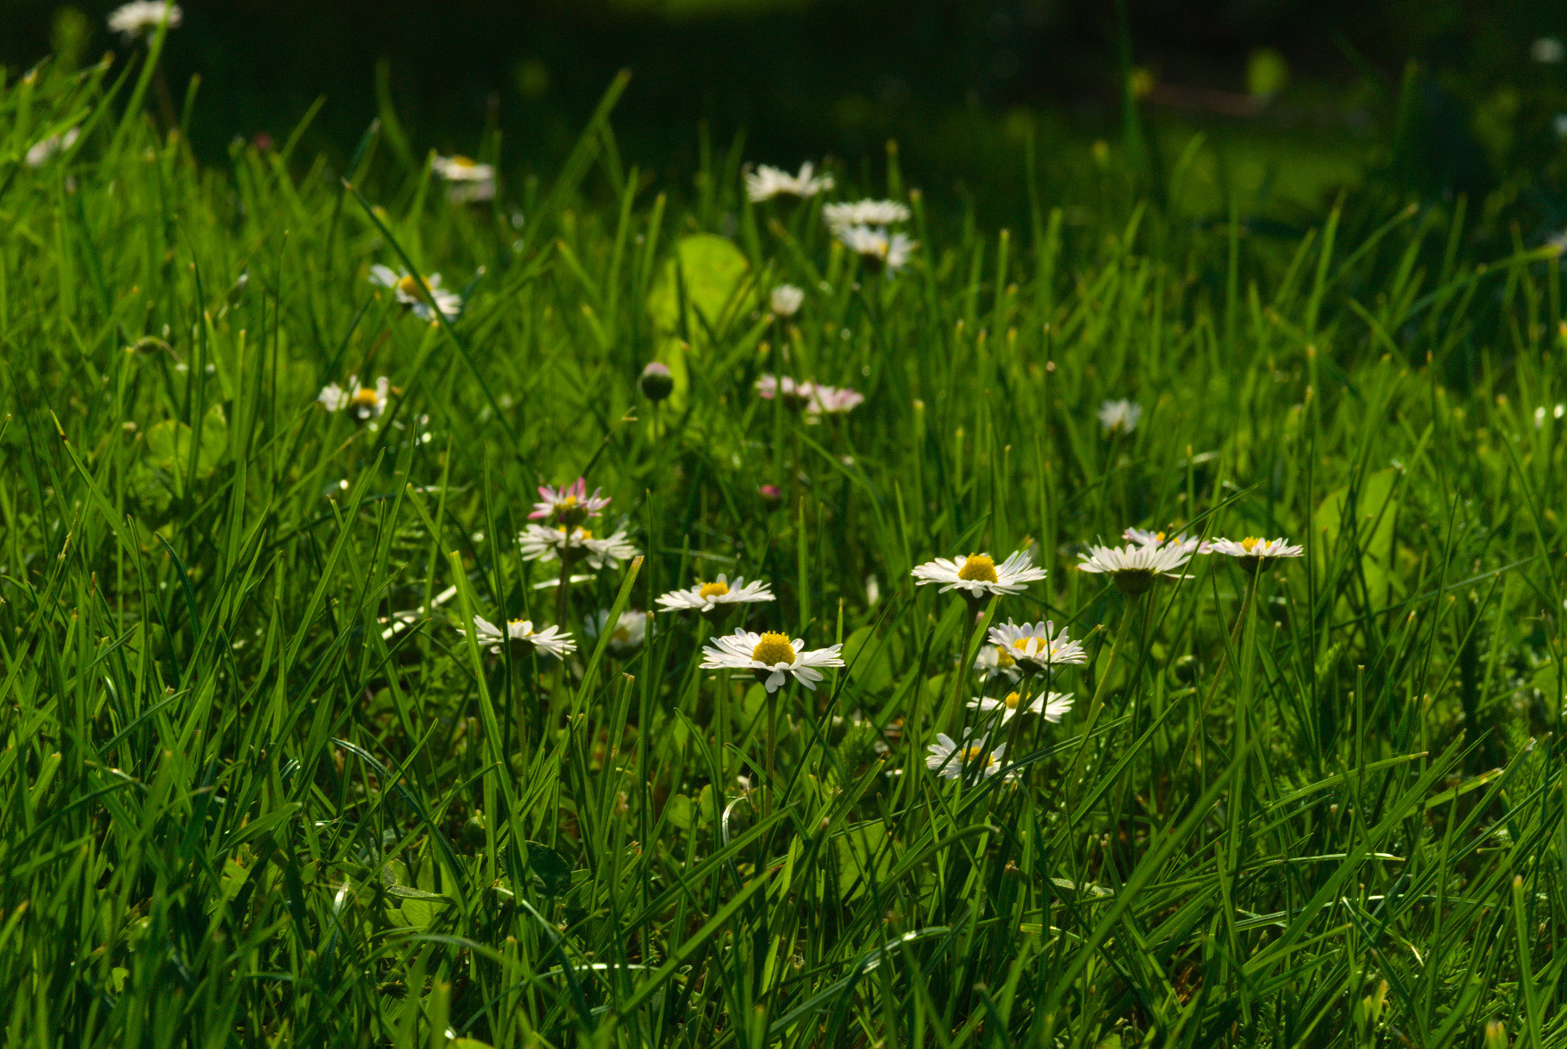
M 885 279 L 818 204 L 746 204 L 738 152 L 653 185 L 603 114 L 450 207 L 392 119 L 348 183 L 202 169 L 149 83 L 0 96 L 8 1044 L 1567 1044 L 1548 252 L 1482 265 L 1462 205 L 1269 240 L 1114 174 L 984 230 L 890 163 L 835 190 L 914 204 Z M 867 400 L 807 425 L 774 368 Z M 349 375 L 390 378 L 375 428 L 317 403 Z M 514 536 L 578 475 L 646 557 L 561 596 Z M 1172 524 L 1305 557 L 1136 599 L 1073 568 Z M 1091 662 L 1015 778 L 942 779 L 983 635 L 909 571 L 1025 546 L 1048 579 L 984 615 Z M 583 632 L 718 572 L 849 665 L 768 704 L 694 615 Z

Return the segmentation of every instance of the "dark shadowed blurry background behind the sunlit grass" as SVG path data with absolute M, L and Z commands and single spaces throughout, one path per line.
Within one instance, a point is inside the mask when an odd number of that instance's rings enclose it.
M 52 49 L 96 60 L 118 49 L 103 28 L 113 6 L 0 0 L 0 60 L 13 74 Z M 1529 235 L 1567 216 L 1567 122 L 1556 124 L 1567 66 L 1531 56 L 1542 38 L 1567 34 L 1561 5 L 193 0 L 183 9 L 165 56 L 165 111 L 183 108 L 197 75 L 190 130 L 213 158 L 235 136 L 287 136 L 318 99 L 302 155 L 342 157 L 376 116 L 379 83 L 417 152 L 489 147 L 511 176 L 547 171 L 630 69 L 614 114 L 622 155 L 675 185 L 699 168 L 704 141 L 721 154 L 741 133 L 747 160 L 832 157 L 871 182 L 896 138 L 928 191 L 1004 213 L 1025 141 L 1047 185 L 1051 171 L 1128 147 L 1130 71 L 1150 171 L 1169 174 L 1202 135 L 1188 158 L 1196 177 L 1182 188 L 1197 210 L 1239 191 L 1252 210 L 1318 212 L 1346 187 L 1379 185 L 1462 193 Z

